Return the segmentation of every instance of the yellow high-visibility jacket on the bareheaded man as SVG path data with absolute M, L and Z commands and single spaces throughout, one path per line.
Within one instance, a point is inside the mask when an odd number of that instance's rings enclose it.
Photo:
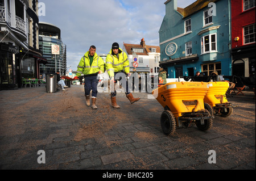
M 104 73 L 105 63 L 97 53 L 94 54 L 92 66 L 90 66 L 89 51 L 81 58 L 79 65 L 77 66 L 77 77 L 81 74 L 89 75 L 98 73 L 100 70 Z

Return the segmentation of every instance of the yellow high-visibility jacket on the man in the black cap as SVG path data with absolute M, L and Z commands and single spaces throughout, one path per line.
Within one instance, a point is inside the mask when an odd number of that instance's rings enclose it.
M 108 71 L 109 77 L 114 77 L 115 72 L 120 72 L 125 70 L 125 73 L 130 73 L 130 65 L 127 54 L 119 48 L 119 58 L 113 55 L 111 50 L 106 57 L 106 71 Z

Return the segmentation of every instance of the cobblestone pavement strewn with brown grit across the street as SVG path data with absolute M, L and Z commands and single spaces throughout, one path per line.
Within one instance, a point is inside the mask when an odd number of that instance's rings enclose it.
M 172 136 L 162 132 L 157 100 L 133 95 L 141 100 L 131 105 L 118 92 L 121 109 L 114 110 L 109 93 L 98 93 L 92 110 L 83 86 L 52 94 L 45 87 L 0 91 L 0 169 L 255 169 L 254 92 L 228 98 L 232 116 L 216 116 L 209 131 L 194 126 Z M 210 150 L 216 163 L 208 163 Z

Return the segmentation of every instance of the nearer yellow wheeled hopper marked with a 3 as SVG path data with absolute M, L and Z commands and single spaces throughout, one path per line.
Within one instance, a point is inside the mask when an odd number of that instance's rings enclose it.
M 161 126 L 165 134 L 172 134 L 176 127 L 191 127 L 201 131 L 212 127 L 213 116 L 204 108 L 204 97 L 209 90 L 205 82 L 171 82 L 152 91 L 163 106 Z

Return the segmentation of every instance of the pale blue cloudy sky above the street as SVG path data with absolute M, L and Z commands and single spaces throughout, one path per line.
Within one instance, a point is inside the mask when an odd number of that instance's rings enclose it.
M 177 0 L 178 7 L 187 7 L 196 0 Z M 159 46 L 166 0 L 39 0 L 46 7 L 39 22 L 54 24 L 61 30 L 67 45 L 67 66 L 77 65 L 90 45 L 97 54 L 108 54 L 114 42 Z M 39 7 L 40 8 L 40 7 Z

